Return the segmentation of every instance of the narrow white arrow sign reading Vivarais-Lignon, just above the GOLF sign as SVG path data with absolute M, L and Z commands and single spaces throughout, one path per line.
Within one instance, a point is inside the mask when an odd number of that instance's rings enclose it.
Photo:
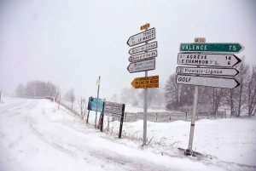
M 213 76 L 236 76 L 239 71 L 237 71 L 236 68 L 195 68 L 177 66 L 176 73 Z

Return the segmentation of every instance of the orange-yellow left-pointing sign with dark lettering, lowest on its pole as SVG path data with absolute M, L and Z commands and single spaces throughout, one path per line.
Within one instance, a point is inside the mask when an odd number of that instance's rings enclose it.
M 137 77 L 131 85 L 134 88 L 159 88 L 159 76 Z

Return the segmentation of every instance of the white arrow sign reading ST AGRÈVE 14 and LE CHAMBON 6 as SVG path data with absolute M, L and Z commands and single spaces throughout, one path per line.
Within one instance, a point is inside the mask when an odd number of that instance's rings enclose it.
M 177 54 L 178 65 L 232 67 L 240 62 L 241 60 L 237 58 L 235 54 Z

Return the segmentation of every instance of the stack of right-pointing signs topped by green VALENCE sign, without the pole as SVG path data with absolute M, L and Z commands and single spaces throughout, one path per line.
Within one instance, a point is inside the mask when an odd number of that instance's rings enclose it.
M 240 43 L 204 43 L 205 38 L 195 38 L 196 43 L 181 43 L 177 54 L 176 83 L 218 88 L 236 88 L 235 78 L 239 71 L 233 66 L 241 62 L 235 54 L 244 47 Z M 221 54 L 220 54 L 221 53 Z M 212 67 L 199 67 L 212 66 Z M 207 77 L 210 76 L 210 77 Z

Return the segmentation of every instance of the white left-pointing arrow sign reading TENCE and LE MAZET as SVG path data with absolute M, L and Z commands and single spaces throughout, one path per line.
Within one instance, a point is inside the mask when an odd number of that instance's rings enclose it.
M 144 43 L 149 40 L 153 40 L 154 38 L 155 38 L 155 31 L 154 31 L 154 28 L 152 28 L 152 29 L 148 29 L 148 31 L 143 31 L 136 35 L 131 36 L 128 39 L 127 44 L 129 46 L 135 46 L 137 44 Z

